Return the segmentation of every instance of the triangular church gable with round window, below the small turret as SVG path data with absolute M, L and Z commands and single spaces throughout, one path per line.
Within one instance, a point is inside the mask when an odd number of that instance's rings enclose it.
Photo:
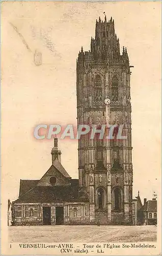
M 59 164 L 58 164 L 58 166 L 59 166 Z M 63 168 L 63 166 L 62 166 L 62 168 Z M 59 169 L 52 164 L 50 166 L 50 168 L 47 170 L 47 172 L 44 174 L 44 176 L 39 180 L 39 182 L 37 183 L 37 186 L 67 186 L 67 185 L 70 185 L 70 180 L 71 180 L 70 176 L 67 173 L 63 173 L 61 171 L 62 171 L 61 168 Z

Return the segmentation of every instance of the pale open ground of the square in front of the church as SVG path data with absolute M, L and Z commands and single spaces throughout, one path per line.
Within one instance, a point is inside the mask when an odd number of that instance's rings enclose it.
M 9 241 L 35 242 L 154 242 L 156 226 L 9 226 Z

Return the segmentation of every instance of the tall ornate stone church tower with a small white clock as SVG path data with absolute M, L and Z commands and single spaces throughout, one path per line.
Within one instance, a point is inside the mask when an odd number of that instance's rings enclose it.
M 120 54 L 114 20 L 96 20 L 91 51 L 82 48 L 77 59 L 77 122 L 98 130 L 94 139 L 89 133 L 78 141 L 79 187 L 89 196 L 90 224 L 132 222 L 130 67 L 126 48 Z

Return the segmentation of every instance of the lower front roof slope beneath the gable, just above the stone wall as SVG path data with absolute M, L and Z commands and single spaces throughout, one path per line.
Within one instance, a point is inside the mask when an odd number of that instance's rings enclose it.
M 19 197 L 14 203 L 21 202 L 79 202 L 88 197 L 79 197 L 78 186 L 36 186 Z

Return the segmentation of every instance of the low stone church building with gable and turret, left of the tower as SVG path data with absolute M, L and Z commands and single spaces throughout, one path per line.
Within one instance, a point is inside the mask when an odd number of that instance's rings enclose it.
M 61 164 L 54 139 L 52 165 L 40 180 L 20 180 L 19 198 L 12 204 L 12 225 L 88 224 L 89 202 Z

